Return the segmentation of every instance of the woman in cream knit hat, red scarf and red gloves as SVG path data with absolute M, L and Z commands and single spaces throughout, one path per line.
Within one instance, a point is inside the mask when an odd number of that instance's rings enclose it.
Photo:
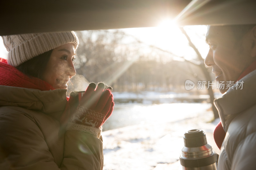
M 101 126 L 113 95 L 91 83 L 78 107 L 77 98 L 67 101 L 75 33 L 2 38 L 9 53 L 0 59 L 0 169 L 102 169 Z

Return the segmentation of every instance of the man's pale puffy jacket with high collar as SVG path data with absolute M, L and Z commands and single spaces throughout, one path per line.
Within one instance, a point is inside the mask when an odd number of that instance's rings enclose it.
M 215 100 L 226 137 L 220 149 L 219 170 L 256 169 L 256 70 Z

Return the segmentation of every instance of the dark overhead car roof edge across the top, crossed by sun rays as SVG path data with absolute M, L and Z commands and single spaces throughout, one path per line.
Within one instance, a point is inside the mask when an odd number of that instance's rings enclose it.
M 180 25 L 255 24 L 255 0 L 1 0 L 0 35 Z M 178 17 L 177 17 L 178 16 Z

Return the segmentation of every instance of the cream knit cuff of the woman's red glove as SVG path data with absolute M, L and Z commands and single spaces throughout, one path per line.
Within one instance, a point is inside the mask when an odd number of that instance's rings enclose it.
M 100 138 L 102 127 L 100 128 L 93 128 L 90 126 L 85 126 L 81 124 L 76 124 L 73 122 L 68 122 L 67 130 L 75 130 L 79 132 L 89 133 L 97 138 Z

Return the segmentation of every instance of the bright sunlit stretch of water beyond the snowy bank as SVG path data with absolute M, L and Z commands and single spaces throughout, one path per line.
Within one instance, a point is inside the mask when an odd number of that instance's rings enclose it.
M 211 107 L 209 103 L 115 104 L 103 131 L 147 122 L 174 122 L 194 116 Z

